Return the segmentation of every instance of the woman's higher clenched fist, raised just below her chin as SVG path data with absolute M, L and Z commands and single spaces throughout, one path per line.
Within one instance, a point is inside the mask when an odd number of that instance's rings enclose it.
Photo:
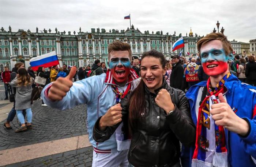
M 159 107 L 165 110 L 166 114 L 169 114 L 170 111 L 175 109 L 175 106 L 171 99 L 171 95 L 166 89 L 161 89 L 158 92 L 157 97 L 155 98 L 155 102 Z

